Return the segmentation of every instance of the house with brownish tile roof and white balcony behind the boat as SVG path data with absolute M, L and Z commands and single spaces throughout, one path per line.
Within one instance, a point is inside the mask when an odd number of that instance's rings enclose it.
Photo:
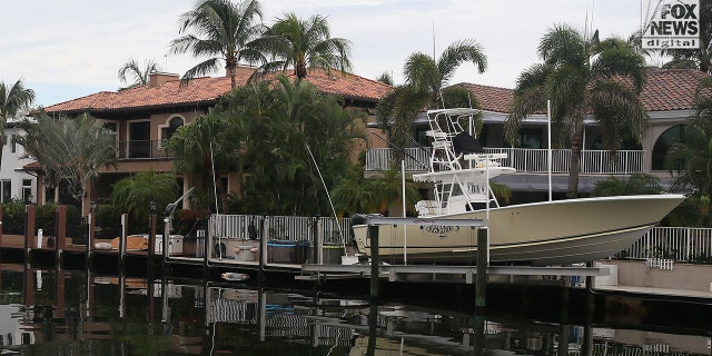
M 698 70 L 651 68 L 647 85 L 641 93 L 650 116 L 650 127 L 640 145 L 624 142 L 615 157 L 602 147 L 600 130 L 589 118 L 585 121 L 578 191 L 590 192 L 596 181 L 612 175 L 630 176 L 637 172 L 655 175 L 661 184 L 670 184 L 671 175 L 663 166 L 665 154 L 672 144 L 681 140 L 682 128 L 694 116 L 694 93 L 700 80 L 706 77 L 706 73 Z M 478 137 L 482 145 L 490 151 L 506 152 L 510 157 L 507 164 L 517 169 L 517 174 L 500 176 L 497 181 L 506 184 L 515 192 L 534 195 L 533 199 L 542 200 L 541 195 L 548 190 L 546 113 L 530 116 L 522 125 L 518 142 L 510 145 L 504 141 L 504 121 L 514 90 L 474 83 L 455 86 L 469 90 L 482 107 L 484 128 Z M 414 137 L 424 137 L 428 129 L 427 120 L 416 120 Z M 413 156 L 419 151 L 417 148 L 411 149 Z M 367 172 L 387 169 L 382 165 L 382 156 L 386 155 L 389 155 L 388 149 L 369 150 L 366 156 Z M 554 194 L 561 196 L 567 190 L 568 157 L 567 149 L 553 150 L 552 186 Z M 413 167 L 412 172 L 423 169 L 422 165 L 415 164 L 406 164 L 406 167 Z

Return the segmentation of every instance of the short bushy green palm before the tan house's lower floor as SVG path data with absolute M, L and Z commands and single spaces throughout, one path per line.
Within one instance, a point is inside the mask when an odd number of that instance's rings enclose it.
M 177 194 L 178 185 L 172 174 L 157 174 L 150 169 L 117 181 L 111 200 L 121 211 L 129 211 L 134 218 L 140 219 L 151 212 L 150 201 L 155 201 L 158 211 L 162 211 Z

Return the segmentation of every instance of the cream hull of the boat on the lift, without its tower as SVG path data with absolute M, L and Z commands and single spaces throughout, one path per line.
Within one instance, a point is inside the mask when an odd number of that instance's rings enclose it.
M 492 208 L 488 219 L 486 210 L 439 218 L 487 219 L 493 263 L 567 265 L 630 247 L 682 200 L 682 195 L 582 198 Z M 370 256 L 367 225 L 353 229 L 359 253 Z M 387 263 L 469 265 L 476 260 L 476 241 L 477 230 L 469 227 L 378 227 L 378 255 Z

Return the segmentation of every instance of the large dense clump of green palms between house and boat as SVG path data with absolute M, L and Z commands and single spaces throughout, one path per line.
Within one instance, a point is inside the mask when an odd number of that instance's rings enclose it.
M 355 140 L 365 139 L 357 122 L 363 116 L 286 76 L 250 83 L 229 100 L 228 137 L 243 142 L 237 160 L 246 177 L 238 205 L 265 214 L 332 215 L 324 186 L 334 186 Z

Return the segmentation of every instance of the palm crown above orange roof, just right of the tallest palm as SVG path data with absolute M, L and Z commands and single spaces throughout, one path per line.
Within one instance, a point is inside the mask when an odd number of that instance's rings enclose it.
M 350 42 L 343 38 L 332 38 L 326 17 L 315 14 L 307 20 L 294 13 L 277 19 L 267 32 L 269 46 L 276 60 L 263 67 L 264 71 L 294 68 L 297 78 L 307 77 L 307 68 L 322 68 L 348 72 Z

